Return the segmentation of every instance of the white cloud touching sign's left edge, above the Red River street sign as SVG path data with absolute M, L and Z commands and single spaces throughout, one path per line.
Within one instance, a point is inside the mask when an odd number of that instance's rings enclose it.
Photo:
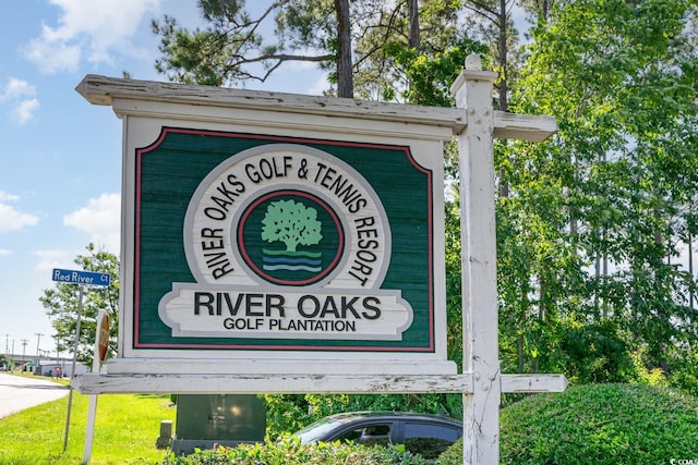
M 121 197 L 119 194 L 103 194 L 92 198 L 87 206 L 63 217 L 63 225 L 89 234 L 89 241 L 112 254 L 119 253 Z

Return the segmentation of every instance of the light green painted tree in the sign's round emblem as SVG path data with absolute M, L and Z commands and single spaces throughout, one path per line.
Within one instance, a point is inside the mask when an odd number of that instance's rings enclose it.
M 300 201 L 279 200 L 269 204 L 262 224 L 262 238 L 282 242 L 287 252 L 296 252 L 299 245 L 318 244 L 323 238 L 317 210 Z

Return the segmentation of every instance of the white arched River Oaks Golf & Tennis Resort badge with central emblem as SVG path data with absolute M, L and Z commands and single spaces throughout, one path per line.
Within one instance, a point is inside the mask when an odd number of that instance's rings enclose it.
M 342 160 L 293 144 L 231 156 L 196 188 L 184 252 L 197 283 L 380 289 L 390 259 L 387 215 Z

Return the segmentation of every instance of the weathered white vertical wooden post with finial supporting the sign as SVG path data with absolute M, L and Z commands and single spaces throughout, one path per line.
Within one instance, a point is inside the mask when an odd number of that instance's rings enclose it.
M 500 463 L 502 392 L 496 298 L 494 223 L 494 110 L 496 73 L 482 71 L 471 54 L 452 87 L 468 125 L 458 137 L 462 266 L 464 374 L 472 375 L 472 394 L 464 394 L 464 464 Z

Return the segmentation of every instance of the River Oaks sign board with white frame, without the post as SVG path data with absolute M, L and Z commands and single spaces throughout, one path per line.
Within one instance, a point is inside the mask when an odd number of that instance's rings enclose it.
M 443 147 L 459 112 L 99 76 L 79 91 L 124 121 L 109 374 L 457 372 Z

